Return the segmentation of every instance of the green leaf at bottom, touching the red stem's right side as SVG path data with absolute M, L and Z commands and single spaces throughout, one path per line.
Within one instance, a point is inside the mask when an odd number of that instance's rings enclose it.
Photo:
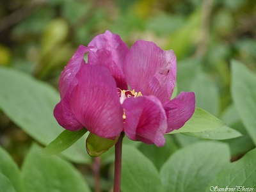
M 122 192 L 161 192 L 162 184 L 156 167 L 135 147 L 123 146 Z

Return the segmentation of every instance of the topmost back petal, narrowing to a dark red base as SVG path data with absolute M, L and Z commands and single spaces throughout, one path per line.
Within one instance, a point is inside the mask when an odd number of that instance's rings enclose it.
M 122 66 L 129 49 L 120 36 L 106 31 L 104 34 L 95 36 L 89 45 L 97 47 L 98 51 L 88 54 L 88 63 L 108 68 L 116 80 L 117 87 L 127 90 Z

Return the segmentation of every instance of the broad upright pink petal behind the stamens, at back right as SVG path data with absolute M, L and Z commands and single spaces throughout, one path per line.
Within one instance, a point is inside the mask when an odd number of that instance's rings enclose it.
M 170 100 L 176 81 L 176 56 L 153 42 L 139 40 L 125 58 L 124 74 L 131 89 L 154 95 L 164 104 Z

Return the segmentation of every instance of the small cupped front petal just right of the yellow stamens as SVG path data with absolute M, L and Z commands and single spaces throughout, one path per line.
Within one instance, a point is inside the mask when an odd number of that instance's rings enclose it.
M 147 144 L 164 145 L 164 133 L 167 129 L 163 106 L 156 97 L 130 97 L 124 100 L 124 132 L 131 140 L 140 140 Z

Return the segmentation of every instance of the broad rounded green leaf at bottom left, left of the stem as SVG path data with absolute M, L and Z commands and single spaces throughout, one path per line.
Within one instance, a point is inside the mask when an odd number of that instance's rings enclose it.
M 42 156 L 41 148 L 32 145 L 24 164 L 22 178 L 26 191 L 90 191 L 83 175 L 58 156 Z

